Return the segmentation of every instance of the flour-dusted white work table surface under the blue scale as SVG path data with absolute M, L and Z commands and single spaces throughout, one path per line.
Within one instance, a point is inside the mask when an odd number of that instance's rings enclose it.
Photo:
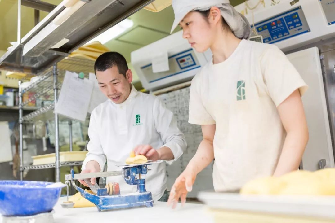
M 167 207 L 166 202 L 154 202 L 153 207 L 139 207 L 122 210 L 109 210 L 98 212 L 96 207 L 90 208 L 62 208 L 61 203 L 65 201 L 61 197 L 54 207 L 55 223 L 73 223 L 73 222 L 118 222 L 137 223 L 159 222 L 159 223 L 177 223 L 177 222 L 201 222 L 212 223 L 213 218 L 207 212 L 207 208 L 202 204 L 186 203 L 181 207 L 179 203 L 176 209 Z M 2 218 L 0 216 L 0 223 Z

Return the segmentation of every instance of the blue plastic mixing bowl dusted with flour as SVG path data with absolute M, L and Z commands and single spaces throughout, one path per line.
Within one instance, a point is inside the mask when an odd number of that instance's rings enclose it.
M 50 212 L 63 186 L 46 188 L 49 182 L 0 181 L 0 214 L 28 216 Z

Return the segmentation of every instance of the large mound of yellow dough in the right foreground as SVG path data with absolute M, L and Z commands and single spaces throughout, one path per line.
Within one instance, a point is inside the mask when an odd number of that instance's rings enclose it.
M 281 177 L 249 181 L 241 194 L 262 195 L 335 195 L 335 168 L 315 172 L 293 171 Z

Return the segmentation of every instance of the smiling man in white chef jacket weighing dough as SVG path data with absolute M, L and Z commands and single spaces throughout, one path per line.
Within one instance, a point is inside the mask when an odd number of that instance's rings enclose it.
M 121 168 L 116 165 L 125 164 L 133 150 L 148 160 L 163 159 L 169 164 L 183 154 L 186 140 L 173 113 L 156 96 L 138 92 L 132 86 L 132 72 L 120 53 L 100 55 L 94 71 L 108 100 L 91 113 L 88 153 L 81 173 L 102 172 L 106 161 L 107 171 L 119 171 Z M 154 201 L 167 200 L 165 163 L 154 163 L 150 169 L 143 176 L 146 190 L 152 193 Z M 109 177 L 107 182 L 119 183 L 121 194 L 133 192 L 122 176 Z

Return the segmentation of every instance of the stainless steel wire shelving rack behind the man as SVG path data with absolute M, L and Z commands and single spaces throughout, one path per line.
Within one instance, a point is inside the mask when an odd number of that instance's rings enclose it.
M 72 151 L 72 121 L 71 119 L 60 116 L 54 113 L 54 108 L 58 99 L 58 90 L 62 86 L 65 71 L 71 72 L 83 72 L 88 74 L 94 72 L 94 61 L 81 59 L 81 58 L 65 58 L 62 61 L 54 64 L 52 69 L 50 68 L 45 73 L 40 74 L 40 78 L 31 83 L 28 87 L 22 88 L 22 82 L 19 81 L 19 143 L 20 143 L 20 178 L 23 180 L 24 170 L 40 170 L 40 169 L 56 169 L 56 182 L 60 181 L 60 168 L 61 166 L 75 166 L 81 165 L 82 161 L 74 162 L 61 162 L 59 159 L 59 121 L 68 121 L 69 123 L 69 142 L 70 151 Z M 31 96 L 27 101 L 23 102 L 23 94 L 31 92 Z M 53 101 L 53 104 L 43 106 L 27 115 L 23 116 L 23 106 L 26 106 L 30 101 L 35 100 L 38 97 L 42 97 L 46 100 Z M 22 125 L 24 123 L 35 122 L 42 120 L 44 122 L 54 120 L 55 121 L 55 155 L 56 162 L 44 165 L 23 165 L 23 131 Z

